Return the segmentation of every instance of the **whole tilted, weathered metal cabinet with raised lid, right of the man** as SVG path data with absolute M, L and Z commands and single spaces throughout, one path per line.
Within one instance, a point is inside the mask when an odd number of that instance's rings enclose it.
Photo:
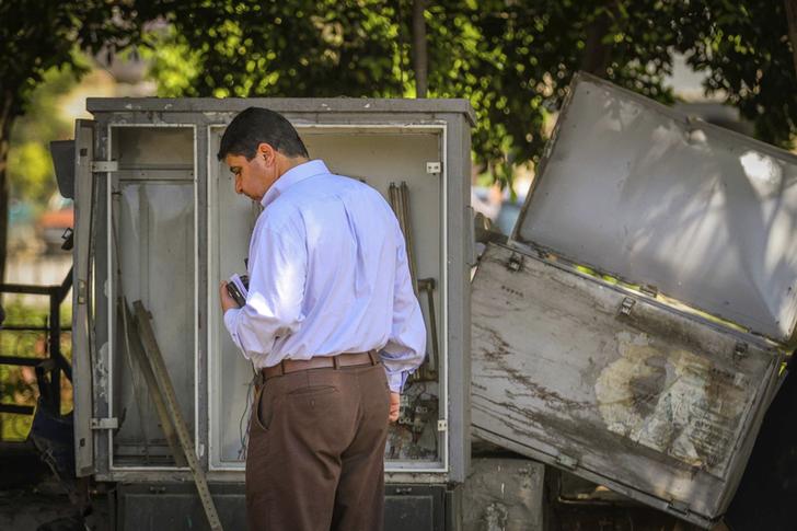
M 579 76 L 473 281 L 474 432 L 707 527 L 795 331 L 797 158 Z

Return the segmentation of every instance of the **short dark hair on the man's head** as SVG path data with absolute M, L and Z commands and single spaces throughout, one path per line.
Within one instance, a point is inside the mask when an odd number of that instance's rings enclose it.
M 221 137 L 217 157 L 223 160 L 228 154 L 238 154 L 252 160 L 262 142 L 286 157 L 309 157 L 304 142 L 290 122 L 281 114 L 263 107 L 241 111 L 230 122 Z

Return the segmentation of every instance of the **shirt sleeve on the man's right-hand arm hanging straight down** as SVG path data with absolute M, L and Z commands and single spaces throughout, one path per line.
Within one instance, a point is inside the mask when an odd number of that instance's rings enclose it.
M 381 357 L 388 373 L 390 390 L 401 393 L 407 377 L 420 367 L 426 356 L 426 325 L 418 298 L 413 291 L 404 235 L 399 231 L 395 286 L 393 289 L 393 321 L 390 338 Z

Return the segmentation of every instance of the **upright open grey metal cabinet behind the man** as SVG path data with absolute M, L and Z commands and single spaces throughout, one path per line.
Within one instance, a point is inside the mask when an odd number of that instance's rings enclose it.
M 229 339 L 217 286 L 244 272 L 259 205 L 216 158 L 236 112 L 265 106 L 312 158 L 389 197 L 406 183 L 429 361 L 411 379 L 386 451 L 389 483 L 455 484 L 470 455 L 470 127 L 464 101 L 89 100 L 76 135 L 76 451 L 102 481 L 187 480 L 137 369 L 141 301 L 211 482 L 243 482 L 252 367 Z M 334 257 L 331 257 L 334 259 Z M 430 326 L 432 321 L 436 326 Z

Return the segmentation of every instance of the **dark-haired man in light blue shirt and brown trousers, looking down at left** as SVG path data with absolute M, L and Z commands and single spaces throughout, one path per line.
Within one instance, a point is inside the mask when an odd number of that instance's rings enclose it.
M 404 239 L 373 188 L 333 175 L 277 113 L 250 107 L 218 153 L 261 201 L 246 304 L 224 324 L 263 376 L 246 455 L 252 530 L 379 530 L 388 422 L 426 330 Z

